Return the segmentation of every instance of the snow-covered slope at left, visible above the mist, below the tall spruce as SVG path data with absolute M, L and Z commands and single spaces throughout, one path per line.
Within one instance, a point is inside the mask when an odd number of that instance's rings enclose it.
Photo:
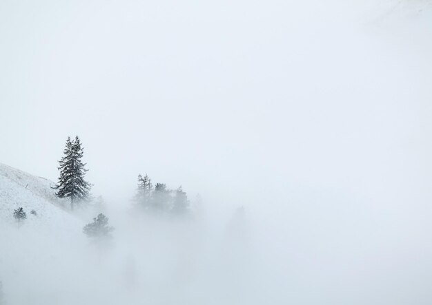
M 54 182 L 0 163 L 0 224 L 14 224 L 13 211 L 23 207 L 27 219 L 23 227 L 75 231 L 81 221 L 63 207 L 66 200 L 55 196 Z M 30 211 L 35 210 L 37 215 Z

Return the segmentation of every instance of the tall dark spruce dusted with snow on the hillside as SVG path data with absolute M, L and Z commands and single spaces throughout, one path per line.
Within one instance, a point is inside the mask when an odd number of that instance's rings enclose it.
M 81 161 L 84 148 L 78 136 L 75 140 L 66 140 L 66 147 L 63 151 L 64 156 L 59 161 L 60 177 L 55 189 L 59 198 L 70 199 L 70 209 L 74 209 L 75 202 L 88 200 L 90 198 L 90 188 L 92 185 L 84 180 L 84 175 L 88 171 L 85 169 L 86 163 Z

